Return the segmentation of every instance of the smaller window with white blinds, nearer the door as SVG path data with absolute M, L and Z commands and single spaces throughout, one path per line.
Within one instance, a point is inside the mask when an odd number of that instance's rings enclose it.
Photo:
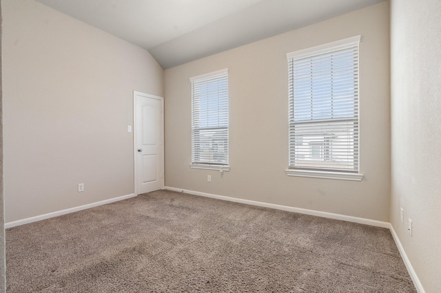
M 190 78 L 192 168 L 229 171 L 227 69 Z

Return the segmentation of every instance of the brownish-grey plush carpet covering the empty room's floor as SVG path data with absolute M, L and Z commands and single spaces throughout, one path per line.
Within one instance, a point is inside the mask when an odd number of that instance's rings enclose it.
M 389 230 L 172 191 L 6 230 L 7 292 L 416 292 Z

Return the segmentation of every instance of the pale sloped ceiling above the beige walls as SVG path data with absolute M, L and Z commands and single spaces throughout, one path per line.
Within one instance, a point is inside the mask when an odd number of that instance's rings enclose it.
M 139 45 L 164 69 L 384 0 L 37 0 Z

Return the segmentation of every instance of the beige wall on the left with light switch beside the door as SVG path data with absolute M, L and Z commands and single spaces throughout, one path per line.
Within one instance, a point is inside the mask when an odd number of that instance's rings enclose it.
M 133 90 L 163 96 L 147 51 L 41 3 L 3 0 L 6 222 L 134 193 Z

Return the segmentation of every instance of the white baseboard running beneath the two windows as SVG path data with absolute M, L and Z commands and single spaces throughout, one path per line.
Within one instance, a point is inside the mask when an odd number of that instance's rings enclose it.
M 325 217 L 325 218 L 329 218 L 329 219 L 339 219 L 342 221 L 351 221 L 353 223 L 358 223 L 358 224 L 366 224 L 366 225 L 382 227 L 382 228 L 389 228 L 390 227 L 389 222 L 386 222 L 386 221 L 376 221 L 373 219 L 365 219 L 365 218 L 360 218 L 360 217 L 339 215 L 339 214 L 334 214 L 334 213 L 321 212 L 320 210 L 307 210 L 306 208 L 294 208 L 293 206 L 281 206 L 279 204 L 268 204 L 267 202 L 256 202 L 254 200 L 249 200 L 249 199 L 240 199 L 240 198 L 236 198 L 236 197 L 214 195 L 211 193 L 201 193 L 199 191 L 189 191 L 186 189 L 174 188 L 174 187 L 169 187 L 169 186 L 165 186 L 164 189 L 167 189 L 169 191 L 177 191 L 180 193 L 188 193 L 191 195 L 200 195 L 203 197 L 222 199 L 222 200 L 226 200 L 228 202 L 238 202 L 240 204 L 250 204 L 252 206 L 263 206 L 265 208 L 275 208 L 276 210 L 287 210 L 288 212 L 293 212 L 293 213 L 300 213 L 300 214 L 305 214 L 305 215 Z

